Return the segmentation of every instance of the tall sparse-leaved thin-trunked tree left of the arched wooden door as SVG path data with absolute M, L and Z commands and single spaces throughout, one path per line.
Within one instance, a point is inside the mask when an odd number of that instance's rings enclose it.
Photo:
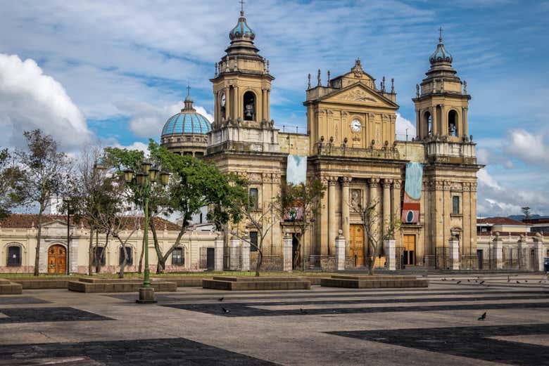
M 38 207 L 38 233 L 36 256 L 34 257 L 34 275 L 39 274 L 40 241 L 42 240 L 42 219 L 44 211 L 54 195 L 63 195 L 68 187 L 71 160 L 64 152 L 58 151 L 55 140 L 39 129 L 25 131 L 27 150 L 18 150 L 15 155 L 25 174 L 21 187 L 22 203 Z

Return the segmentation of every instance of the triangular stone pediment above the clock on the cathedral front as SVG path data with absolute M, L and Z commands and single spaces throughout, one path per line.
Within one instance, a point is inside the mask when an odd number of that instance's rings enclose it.
M 368 105 L 374 107 L 398 108 L 398 105 L 392 100 L 382 96 L 377 91 L 373 91 L 362 83 L 349 85 L 346 88 L 333 91 L 319 98 L 319 101 L 328 103 L 351 103 L 356 105 Z

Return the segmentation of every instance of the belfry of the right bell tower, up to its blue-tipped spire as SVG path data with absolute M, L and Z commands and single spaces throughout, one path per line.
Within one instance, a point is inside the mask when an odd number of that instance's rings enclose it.
M 436 51 L 429 57 L 431 68 L 416 85 L 415 103 L 417 139 L 445 138 L 468 141 L 467 112 L 471 96 L 467 81 L 461 81 L 452 67 L 452 55 L 442 43 L 442 28 Z

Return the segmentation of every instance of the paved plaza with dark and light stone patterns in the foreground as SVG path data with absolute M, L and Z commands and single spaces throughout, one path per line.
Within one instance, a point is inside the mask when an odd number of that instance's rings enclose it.
M 0 365 L 549 365 L 541 275 L 428 278 L 428 289 L 184 287 L 155 305 L 24 290 L 0 296 Z

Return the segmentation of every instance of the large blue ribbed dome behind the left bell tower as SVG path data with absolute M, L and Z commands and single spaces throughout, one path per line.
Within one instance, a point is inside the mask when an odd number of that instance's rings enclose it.
M 162 136 L 189 133 L 203 134 L 212 130 L 212 125 L 193 107 L 193 100 L 190 93 L 185 98 L 185 107 L 177 115 L 173 115 L 166 121 L 162 129 Z

